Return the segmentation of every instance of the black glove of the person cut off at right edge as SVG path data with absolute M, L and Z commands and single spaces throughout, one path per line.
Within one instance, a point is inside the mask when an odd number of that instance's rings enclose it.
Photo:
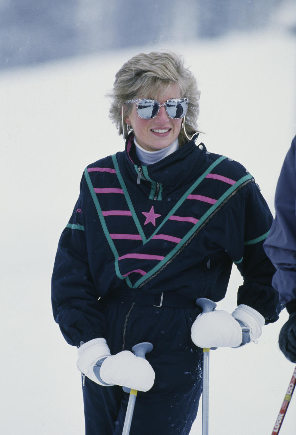
M 289 320 L 286 321 L 279 333 L 279 348 L 287 359 L 296 362 L 296 300 L 286 305 Z

